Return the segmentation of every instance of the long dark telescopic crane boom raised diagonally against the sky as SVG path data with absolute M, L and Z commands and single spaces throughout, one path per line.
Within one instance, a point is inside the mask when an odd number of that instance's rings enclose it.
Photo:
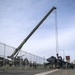
M 27 42 L 27 40 L 32 36 L 32 34 L 38 29 L 38 27 L 44 22 L 44 20 L 50 15 L 50 13 L 56 9 L 56 7 L 52 7 L 52 9 L 42 18 L 42 20 L 35 26 L 35 28 L 29 33 L 29 35 L 22 41 L 22 43 L 15 49 L 10 58 L 14 57 L 22 48 L 22 46 Z

